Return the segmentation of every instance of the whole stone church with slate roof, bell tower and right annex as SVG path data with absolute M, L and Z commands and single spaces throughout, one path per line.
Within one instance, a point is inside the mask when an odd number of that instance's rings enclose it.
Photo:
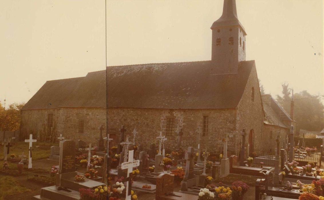
M 124 125 L 130 140 L 136 128 L 135 141 L 146 148 L 162 131 L 166 149 L 174 150 L 182 131 L 183 148 L 199 143 L 219 153 L 227 133 L 233 154 L 248 144 L 249 152 L 273 149 L 279 133 L 280 141 L 286 138 L 292 119 L 270 95 L 260 94 L 255 62 L 245 59 L 247 33 L 235 0 L 224 0 L 211 29 L 210 61 L 109 66 L 85 77 L 47 81 L 23 107 L 20 132 L 95 142 L 104 124 L 116 145 Z

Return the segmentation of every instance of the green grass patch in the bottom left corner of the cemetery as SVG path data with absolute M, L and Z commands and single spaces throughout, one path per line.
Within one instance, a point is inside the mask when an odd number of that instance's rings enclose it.
M 17 183 L 17 181 L 15 181 L 15 179 L 12 176 L 1 175 L 0 177 L 0 200 L 4 200 L 5 197 L 8 195 L 31 192 L 30 189 L 19 185 L 19 183 Z

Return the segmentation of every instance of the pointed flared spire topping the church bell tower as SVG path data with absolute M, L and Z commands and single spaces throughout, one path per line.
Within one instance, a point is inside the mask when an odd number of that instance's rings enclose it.
M 227 26 L 240 26 L 246 34 L 245 29 L 237 18 L 235 0 L 224 0 L 223 14 L 213 23 L 211 29 Z

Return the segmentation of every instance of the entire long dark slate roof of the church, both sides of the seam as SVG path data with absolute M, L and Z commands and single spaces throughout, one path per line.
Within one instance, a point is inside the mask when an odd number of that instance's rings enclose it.
M 242 97 L 254 61 L 237 74 L 211 74 L 211 61 L 107 67 L 85 77 L 47 81 L 23 110 L 57 107 L 232 109 Z M 107 89 L 107 91 L 106 91 Z

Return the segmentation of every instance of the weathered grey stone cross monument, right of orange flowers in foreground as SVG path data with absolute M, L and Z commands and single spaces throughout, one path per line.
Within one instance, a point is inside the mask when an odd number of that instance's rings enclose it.
M 196 184 L 196 179 L 193 174 L 193 147 L 188 147 L 187 153 L 184 155 L 184 159 L 186 160 L 186 169 L 183 177 L 183 181 L 181 181 L 181 190 L 187 191 L 188 187 L 191 187 Z

